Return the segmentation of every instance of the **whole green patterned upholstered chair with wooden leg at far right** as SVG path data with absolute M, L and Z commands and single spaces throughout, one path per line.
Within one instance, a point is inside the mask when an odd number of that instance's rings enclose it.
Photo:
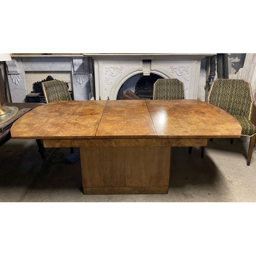
M 247 155 L 249 166 L 256 139 L 256 105 L 250 83 L 241 79 L 217 79 L 211 85 L 207 101 L 236 118 L 242 126 L 241 135 L 250 137 Z

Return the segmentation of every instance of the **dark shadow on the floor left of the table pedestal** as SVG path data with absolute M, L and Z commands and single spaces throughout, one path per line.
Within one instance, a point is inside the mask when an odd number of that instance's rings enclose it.
M 0 187 L 82 187 L 80 161 L 70 163 L 65 159 L 70 155 L 70 148 L 48 148 L 45 160 L 42 160 L 35 140 L 31 140 L 28 147 L 23 147 L 19 140 L 10 142 L 0 147 L 0 154 L 5 156 L 0 159 Z

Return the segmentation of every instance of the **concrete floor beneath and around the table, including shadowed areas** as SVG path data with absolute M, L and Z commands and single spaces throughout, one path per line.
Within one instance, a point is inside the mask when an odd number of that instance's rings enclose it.
M 249 142 L 214 139 L 205 147 L 172 148 L 167 195 L 83 195 L 80 161 L 67 162 L 69 148 L 35 140 L 9 140 L 0 147 L 0 202 L 255 202 L 256 155 L 246 165 Z M 76 150 L 76 149 L 75 149 Z

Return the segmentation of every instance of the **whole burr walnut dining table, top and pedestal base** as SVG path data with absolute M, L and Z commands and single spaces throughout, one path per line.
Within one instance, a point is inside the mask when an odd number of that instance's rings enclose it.
M 83 194 L 167 194 L 173 146 L 239 138 L 241 125 L 199 100 L 55 101 L 20 117 L 11 136 L 79 147 Z

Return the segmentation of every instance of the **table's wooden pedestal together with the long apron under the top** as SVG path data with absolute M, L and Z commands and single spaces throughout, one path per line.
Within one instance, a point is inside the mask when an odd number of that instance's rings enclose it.
M 168 194 L 172 146 L 206 146 L 199 138 L 44 139 L 45 147 L 79 147 L 84 194 Z

